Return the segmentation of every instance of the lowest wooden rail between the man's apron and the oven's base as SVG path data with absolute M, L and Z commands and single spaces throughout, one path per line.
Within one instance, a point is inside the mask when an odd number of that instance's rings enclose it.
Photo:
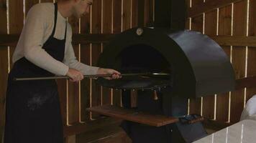
M 122 120 L 120 119 L 102 117 L 100 119 L 96 119 L 86 123 L 72 124 L 71 126 L 64 127 L 64 137 L 69 137 L 73 134 L 80 134 L 81 132 L 91 132 L 95 129 L 102 129 L 109 126 L 109 124 L 119 125 L 121 122 Z

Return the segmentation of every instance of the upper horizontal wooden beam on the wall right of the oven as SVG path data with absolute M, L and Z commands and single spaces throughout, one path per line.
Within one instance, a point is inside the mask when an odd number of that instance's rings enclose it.
M 256 36 L 210 36 L 221 46 L 256 46 Z M 234 47 L 235 48 L 235 47 Z

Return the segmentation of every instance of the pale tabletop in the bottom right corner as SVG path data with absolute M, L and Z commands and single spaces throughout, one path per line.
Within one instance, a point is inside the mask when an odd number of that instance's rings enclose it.
M 256 121 L 242 120 L 230 127 L 221 129 L 194 143 L 253 143 L 256 142 Z

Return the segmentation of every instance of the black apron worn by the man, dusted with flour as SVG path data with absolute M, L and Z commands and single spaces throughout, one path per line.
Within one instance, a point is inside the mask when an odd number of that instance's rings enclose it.
M 42 48 L 58 61 L 63 61 L 65 38 L 55 39 L 58 6 L 52 34 Z M 67 24 L 65 27 L 65 37 Z M 63 143 L 63 122 L 58 87 L 55 80 L 20 81 L 19 77 L 49 77 L 54 74 L 25 59 L 14 63 L 9 73 L 6 94 L 4 143 Z

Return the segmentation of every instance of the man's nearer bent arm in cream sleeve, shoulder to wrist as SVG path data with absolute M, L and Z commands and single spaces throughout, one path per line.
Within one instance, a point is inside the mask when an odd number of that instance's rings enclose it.
M 35 5 L 29 10 L 22 32 L 24 32 L 24 56 L 33 64 L 53 74 L 66 75 L 68 66 L 52 58 L 42 49 L 44 31 L 47 26 L 47 19 L 44 9 Z

